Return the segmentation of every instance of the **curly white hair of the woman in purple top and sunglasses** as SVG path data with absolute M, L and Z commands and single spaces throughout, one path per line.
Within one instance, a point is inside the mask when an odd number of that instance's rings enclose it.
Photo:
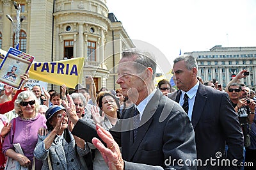
M 34 93 L 32 91 L 22 91 L 21 93 L 19 93 L 17 99 L 14 102 L 14 109 L 15 112 L 19 115 L 22 116 L 22 111 L 21 111 L 21 107 L 20 107 L 20 103 L 23 102 L 24 100 L 28 99 L 29 97 L 32 97 L 33 100 L 35 100 L 35 112 L 38 112 L 39 110 L 39 102 L 36 99 L 36 96 L 34 95 Z

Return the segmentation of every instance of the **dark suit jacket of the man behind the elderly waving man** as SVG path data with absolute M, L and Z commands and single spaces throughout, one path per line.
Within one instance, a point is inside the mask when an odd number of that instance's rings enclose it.
M 180 94 L 181 91 L 178 90 L 172 93 L 170 98 L 179 103 Z M 198 158 L 202 160 L 216 158 L 216 154 L 220 152 L 223 155 L 221 158 L 228 158 L 230 164 L 234 159 L 237 159 L 238 163 L 243 161 L 243 133 L 227 93 L 199 83 L 191 121 L 195 130 Z M 227 157 L 224 153 L 225 142 L 228 145 Z M 221 169 L 221 167 L 198 167 L 198 169 L 211 168 Z

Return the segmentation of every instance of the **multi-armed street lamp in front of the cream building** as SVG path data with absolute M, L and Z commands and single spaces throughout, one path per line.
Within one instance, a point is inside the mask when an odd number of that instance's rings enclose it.
M 10 15 L 6 15 L 6 17 L 8 18 L 8 20 L 10 20 L 12 22 L 13 32 L 15 33 L 14 43 L 15 43 L 16 49 L 18 50 L 19 49 L 19 37 L 20 37 L 20 22 L 22 22 L 24 20 L 25 16 L 21 15 L 21 17 L 20 17 L 20 10 L 21 10 L 20 4 L 18 5 L 17 2 L 13 1 L 13 5 L 16 9 L 17 23 L 13 22 L 13 19 Z

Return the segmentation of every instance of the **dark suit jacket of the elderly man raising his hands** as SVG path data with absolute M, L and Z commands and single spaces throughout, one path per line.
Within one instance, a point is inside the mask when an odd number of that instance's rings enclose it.
M 157 89 L 143 112 L 135 141 L 133 111 L 131 107 L 123 112 L 122 119 L 111 128 L 115 141 L 122 146 L 125 169 L 196 169 L 195 166 L 178 166 L 177 161 L 173 161 L 196 158 L 193 127 L 179 104 Z M 77 122 L 72 134 L 83 138 L 83 121 Z

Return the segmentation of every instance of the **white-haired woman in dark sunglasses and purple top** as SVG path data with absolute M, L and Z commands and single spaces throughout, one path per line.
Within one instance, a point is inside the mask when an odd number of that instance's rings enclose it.
M 19 115 L 11 120 L 12 128 L 4 139 L 3 153 L 17 160 L 22 167 L 32 168 L 33 151 L 38 140 L 38 129 L 46 128 L 46 119 L 38 113 L 39 103 L 32 91 L 21 92 L 15 100 L 15 112 Z M 13 144 L 20 144 L 24 155 L 16 153 Z M 35 161 L 36 169 L 42 162 Z M 17 168 L 16 168 L 17 169 Z

